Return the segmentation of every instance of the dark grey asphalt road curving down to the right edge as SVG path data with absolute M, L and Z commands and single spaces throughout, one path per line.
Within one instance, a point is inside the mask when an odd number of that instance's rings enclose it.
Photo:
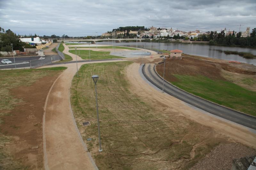
M 162 90 L 163 79 L 157 75 L 156 71 L 154 70 L 154 64 L 145 64 L 142 67 L 142 73 L 148 79 L 148 81 Z M 166 81 L 164 82 L 164 92 L 213 115 L 217 115 L 229 121 L 236 122 L 252 129 L 256 129 L 256 117 L 246 115 L 227 107 L 223 107 L 201 99 L 188 92 L 180 90 L 179 88 L 169 84 Z

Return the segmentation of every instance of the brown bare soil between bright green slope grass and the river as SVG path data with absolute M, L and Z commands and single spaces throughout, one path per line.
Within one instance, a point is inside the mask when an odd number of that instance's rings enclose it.
M 195 55 L 185 55 L 181 60 L 166 59 L 165 77 L 170 81 L 177 81 L 175 74 L 178 75 L 202 75 L 211 79 L 221 79 L 231 81 L 248 90 L 256 91 L 256 66 L 251 64 L 229 63 L 227 60 L 219 60 Z M 139 61 L 139 59 L 138 59 Z M 155 59 L 156 63 L 163 59 Z M 156 70 L 163 73 L 164 64 L 157 64 Z M 245 79 L 246 78 L 246 79 Z M 247 80 L 250 80 L 247 83 Z

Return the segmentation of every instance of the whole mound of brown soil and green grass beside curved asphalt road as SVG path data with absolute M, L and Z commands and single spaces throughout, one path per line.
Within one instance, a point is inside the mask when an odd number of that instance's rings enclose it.
M 163 64 L 158 64 L 156 70 L 162 76 Z M 236 70 L 239 72 L 239 70 Z M 243 71 L 241 69 L 240 71 Z M 256 92 L 235 84 L 226 76 L 222 69 L 212 62 L 185 57 L 182 60 L 167 59 L 165 79 L 181 89 L 210 100 L 214 103 L 256 116 Z M 235 72 L 230 70 L 233 75 Z M 242 73 L 242 72 L 241 72 Z M 240 84 L 254 85 L 253 78 L 241 78 Z

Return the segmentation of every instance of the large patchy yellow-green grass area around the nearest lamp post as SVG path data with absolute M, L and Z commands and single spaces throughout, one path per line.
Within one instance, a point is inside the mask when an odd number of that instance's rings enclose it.
M 191 167 L 218 140 L 203 142 L 209 128 L 185 117 L 180 118 L 166 106 L 153 108 L 146 99 L 142 100 L 139 94 L 132 93 L 124 74 L 129 64 L 131 62 L 85 64 L 79 70 L 80 76 L 75 76 L 72 81 L 71 105 L 76 124 L 96 165 L 99 169 Z M 91 78 L 94 74 L 99 75 L 101 153 L 98 151 L 95 91 Z M 163 112 L 172 115 L 171 118 Z M 86 121 L 91 125 L 83 126 L 82 122 Z M 199 142 L 199 147 L 194 148 Z M 193 158 L 191 151 L 195 151 Z

